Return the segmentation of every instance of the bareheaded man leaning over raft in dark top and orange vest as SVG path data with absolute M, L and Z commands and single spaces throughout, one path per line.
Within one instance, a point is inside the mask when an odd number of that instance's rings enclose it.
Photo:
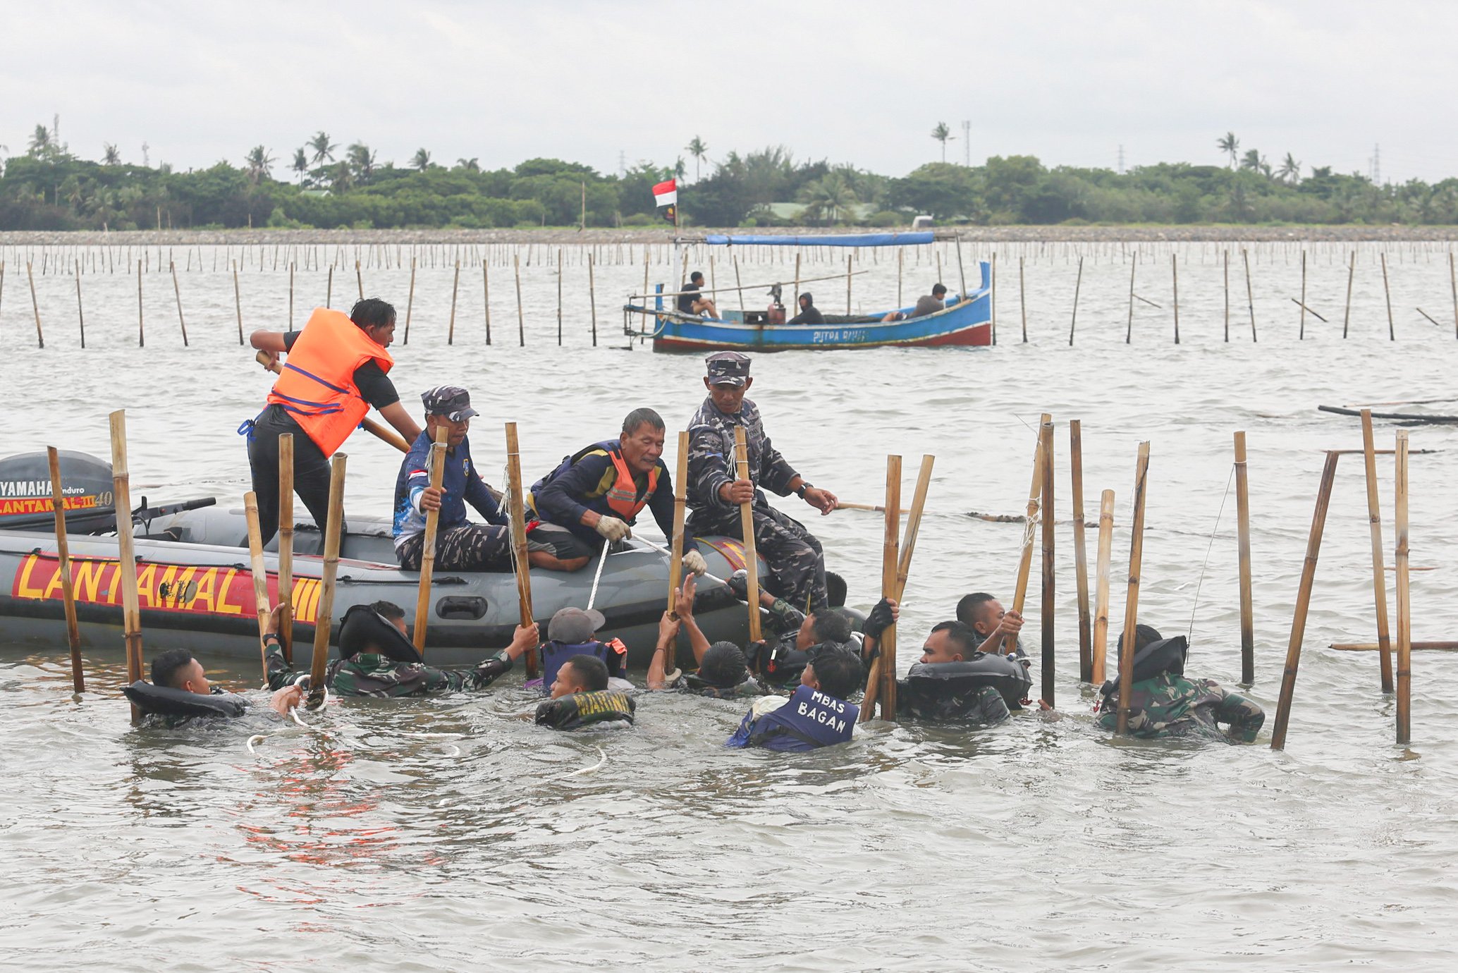
M 541 518 L 532 540 L 553 547 L 566 570 L 577 570 L 602 550 L 604 541 L 631 537 L 646 506 L 672 543 L 674 484 L 662 457 L 663 419 L 652 408 L 634 408 L 623 420 L 617 441 L 564 457 L 532 484 L 526 503 Z M 684 567 L 695 575 L 709 570 L 693 547 L 684 553 Z

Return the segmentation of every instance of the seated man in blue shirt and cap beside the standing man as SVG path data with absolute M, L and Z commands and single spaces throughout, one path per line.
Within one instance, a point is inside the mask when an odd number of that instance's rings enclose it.
M 512 530 L 497 493 L 477 474 L 471 461 L 471 394 L 456 385 L 437 385 L 421 394 L 426 427 L 416 436 L 395 478 L 395 557 L 405 570 L 420 570 L 426 544 L 426 513 L 440 511 L 436 528 L 436 569 L 512 570 Z M 430 448 L 436 429 L 446 430 L 446 461 L 439 487 L 430 486 Z M 469 503 L 486 518 L 471 524 Z M 526 559 L 534 567 L 569 570 L 550 544 L 528 540 Z M 577 565 L 580 567 L 580 565 Z

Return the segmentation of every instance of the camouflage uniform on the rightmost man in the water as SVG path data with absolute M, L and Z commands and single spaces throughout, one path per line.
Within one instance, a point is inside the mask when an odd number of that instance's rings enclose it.
M 1098 722 L 1118 726 L 1118 694 L 1105 697 Z M 1252 743 L 1266 713 L 1258 705 L 1220 689 L 1215 680 L 1188 680 L 1161 672 L 1134 683 L 1130 694 L 1128 732 L 1134 737 L 1200 737 Z M 1220 731 L 1217 724 L 1229 724 Z

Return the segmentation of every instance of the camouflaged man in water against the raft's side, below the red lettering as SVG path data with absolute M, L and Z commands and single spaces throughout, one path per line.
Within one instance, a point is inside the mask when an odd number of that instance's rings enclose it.
M 295 671 L 283 658 L 278 624 L 283 607 L 268 617 L 267 648 L 268 687 L 277 689 L 296 681 Z M 486 689 L 509 672 L 516 659 L 537 648 L 535 624 L 516 626 L 512 643 L 469 670 L 437 670 L 426 665 L 405 635 L 405 613 L 389 601 L 351 605 L 340 621 L 340 658 L 330 662 L 324 683 L 335 696 L 434 696 L 461 690 Z

